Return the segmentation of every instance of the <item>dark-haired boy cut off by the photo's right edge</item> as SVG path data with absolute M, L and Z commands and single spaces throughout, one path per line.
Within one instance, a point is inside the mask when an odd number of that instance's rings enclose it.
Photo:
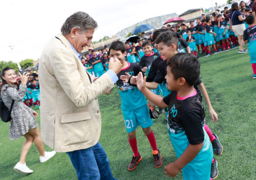
M 250 62 L 253 70 L 252 78 L 256 79 L 256 26 L 254 15 L 248 15 L 245 21 L 249 24 L 249 28 L 244 30 L 244 42 L 249 42 Z

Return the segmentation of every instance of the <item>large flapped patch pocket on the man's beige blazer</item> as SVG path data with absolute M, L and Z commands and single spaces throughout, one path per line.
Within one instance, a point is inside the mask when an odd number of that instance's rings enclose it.
M 92 141 L 91 115 L 89 111 L 61 114 L 62 145 L 82 145 Z

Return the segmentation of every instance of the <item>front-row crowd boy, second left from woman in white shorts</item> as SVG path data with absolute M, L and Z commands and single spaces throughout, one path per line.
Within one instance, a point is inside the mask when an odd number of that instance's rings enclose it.
M 215 42 L 214 42 L 214 37 L 216 36 L 215 32 L 212 32 L 211 29 L 211 18 L 210 17 L 206 17 L 205 19 L 205 42 L 207 43 L 207 47 L 208 47 L 208 54 L 211 55 L 211 45 L 214 48 L 214 51 L 217 52 L 217 48 L 215 47 Z

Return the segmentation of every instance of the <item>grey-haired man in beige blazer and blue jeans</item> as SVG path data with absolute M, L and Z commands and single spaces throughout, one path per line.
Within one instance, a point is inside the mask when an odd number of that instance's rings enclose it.
M 39 63 L 42 140 L 68 154 L 79 180 L 113 179 L 99 143 L 98 96 L 114 87 L 122 64 L 111 58 L 109 70 L 96 80 L 84 69 L 79 55 L 91 45 L 97 26 L 90 15 L 74 13 L 61 27 L 61 34 L 45 46 Z

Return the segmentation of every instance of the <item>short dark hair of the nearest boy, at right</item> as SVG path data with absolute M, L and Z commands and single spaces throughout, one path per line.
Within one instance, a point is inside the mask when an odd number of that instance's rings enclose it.
M 167 61 L 167 67 L 171 68 L 174 79 L 183 77 L 190 86 L 196 84 L 200 66 L 201 62 L 191 53 L 177 53 Z

